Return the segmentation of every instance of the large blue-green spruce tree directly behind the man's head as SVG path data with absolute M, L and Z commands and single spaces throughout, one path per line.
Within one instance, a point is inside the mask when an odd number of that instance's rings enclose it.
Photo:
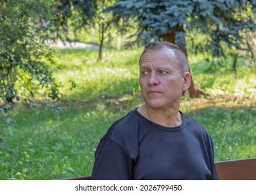
M 134 18 L 144 44 L 164 39 L 177 44 L 186 55 L 186 33 L 204 34 L 206 38 L 197 48 L 211 51 L 213 60 L 224 55 L 225 46 L 245 50 L 243 32 L 256 28 L 255 0 L 120 0 L 107 10 L 124 21 Z M 246 13 L 243 19 L 239 17 L 241 10 Z M 190 96 L 205 95 L 191 78 Z

